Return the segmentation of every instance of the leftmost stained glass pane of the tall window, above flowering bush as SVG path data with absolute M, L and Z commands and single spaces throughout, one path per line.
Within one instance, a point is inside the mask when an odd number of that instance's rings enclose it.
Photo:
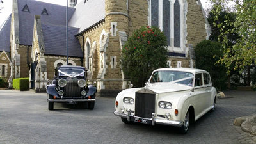
M 158 0 L 151 0 L 151 26 L 158 25 Z

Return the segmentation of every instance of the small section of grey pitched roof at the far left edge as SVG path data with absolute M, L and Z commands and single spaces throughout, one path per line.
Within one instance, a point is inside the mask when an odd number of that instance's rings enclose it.
M 11 15 L 4 22 L 3 27 L 0 29 L 0 52 L 10 52 L 10 31 L 11 31 Z

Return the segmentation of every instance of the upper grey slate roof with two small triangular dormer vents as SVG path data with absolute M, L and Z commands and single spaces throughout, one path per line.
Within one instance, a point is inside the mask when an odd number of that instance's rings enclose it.
M 25 6 L 28 6 L 29 12 L 22 11 Z M 47 10 L 48 15 L 42 15 L 42 12 Z M 35 0 L 18 1 L 19 13 L 19 42 L 21 45 L 32 45 L 33 38 L 33 22 L 35 15 L 41 16 L 42 23 L 63 25 L 66 24 L 66 6 L 57 4 L 44 3 Z M 75 8 L 68 7 L 68 20 L 74 13 Z

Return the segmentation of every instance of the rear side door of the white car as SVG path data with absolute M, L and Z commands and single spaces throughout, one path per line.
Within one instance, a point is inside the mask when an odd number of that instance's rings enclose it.
M 205 97 L 207 97 L 207 107 L 205 109 L 209 109 L 213 104 L 213 99 L 211 98 L 211 91 L 212 91 L 212 84 L 211 84 L 211 77 L 208 73 L 203 73 L 204 77 L 204 90 Z

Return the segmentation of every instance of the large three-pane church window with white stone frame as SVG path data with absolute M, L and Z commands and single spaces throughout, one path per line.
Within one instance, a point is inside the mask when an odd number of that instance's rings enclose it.
M 150 0 L 150 26 L 159 27 L 167 38 L 169 51 L 184 51 L 186 36 L 182 35 L 185 28 L 184 8 L 182 0 Z M 186 2 L 185 2 L 186 3 Z M 184 39 L 184 40 L 183 40 Z

